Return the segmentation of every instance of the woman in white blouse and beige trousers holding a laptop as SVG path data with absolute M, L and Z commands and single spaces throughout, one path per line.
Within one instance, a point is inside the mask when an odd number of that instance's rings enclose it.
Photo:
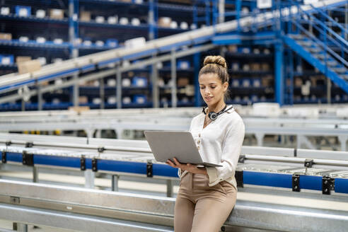
M 193 118 L 190 125 L 204 161 L 219 163 L 221 167 L 182 164 L 175 158 L 173 162 L 166 162 L 179 168 L 181 179 L 175 202 L 175 232 L 219 231 L 236 204 L 234 174 L 243 144 L 244 124 L 233 107 L 225 103 L 228 88 L 226 67 L 223 57 L 205 57 L 204 66 L 199 71 L 199 86 L 207 107 Z M 213 112 L 217 113 L 216 118 Z

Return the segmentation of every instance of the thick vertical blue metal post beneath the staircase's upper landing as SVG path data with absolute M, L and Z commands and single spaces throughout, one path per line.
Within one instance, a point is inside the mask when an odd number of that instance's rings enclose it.
M 274 45 L 274 81 L 275 81 L 275 101 L 279 105 L 284 104 L 284 74 L 283 74 L 283 52 L 282 43 Z

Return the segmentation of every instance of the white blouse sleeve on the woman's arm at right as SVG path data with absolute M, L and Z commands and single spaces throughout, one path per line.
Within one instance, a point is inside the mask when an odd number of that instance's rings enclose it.
M 218 182 L 227 180 L 234 175 L 243 145 L 244 134 L 244 123 L 243 120 L 239 118 L 226 134 L 221 154 L 222 167 L 206 168 L 209 175 L 209 186 L 214 186 Z

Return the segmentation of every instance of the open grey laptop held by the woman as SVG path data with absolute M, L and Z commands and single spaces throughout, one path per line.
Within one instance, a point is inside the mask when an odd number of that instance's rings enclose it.
M 222 167 L 202 160 L 190 132 L 144 131 L 144 134 L 156 161 L 165 163 L 175 157 L 180 163 Z

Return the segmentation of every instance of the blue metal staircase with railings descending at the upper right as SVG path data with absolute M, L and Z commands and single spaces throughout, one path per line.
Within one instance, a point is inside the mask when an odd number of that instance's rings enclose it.
M 296 15 L 284 19 L 291 30 L 282 39 L 291 50 L 348 93 L 348 42 L 344 38 L 347 29 L 327 16 L 325 11 L 311 7 L 311 13 L 298 7 Z

